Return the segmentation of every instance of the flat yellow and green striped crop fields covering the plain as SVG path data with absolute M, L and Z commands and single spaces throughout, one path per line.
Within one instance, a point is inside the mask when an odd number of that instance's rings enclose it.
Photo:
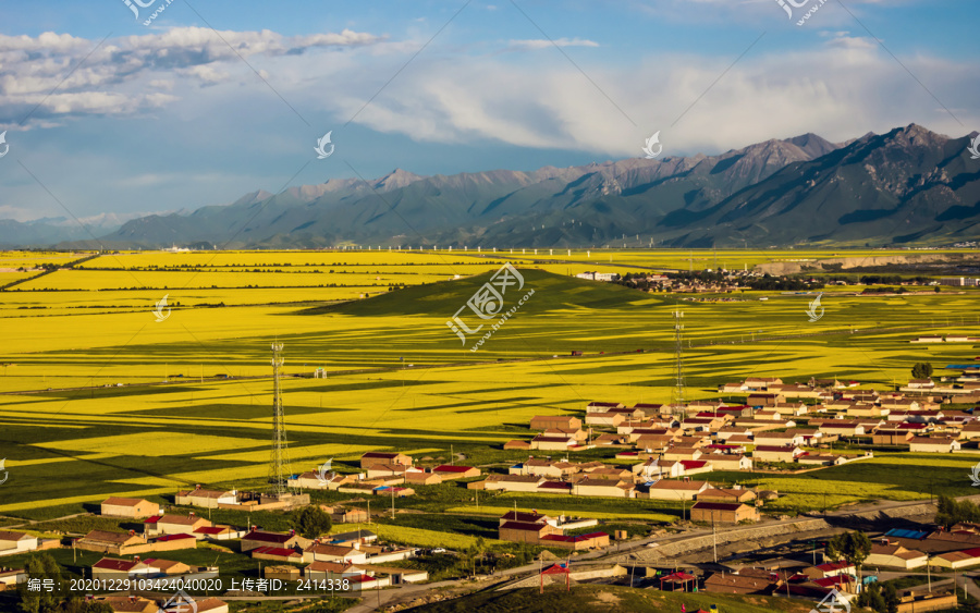
M 621 272 L 627 266 L 683 259 L 677 253 L 635 254 L 628 261 L 625 253 L 610 255 L 624 258 Z M 760 261 L 774 257 L 751 255 Z M 177 488 L 194 483 L 260 487 L 268 470 L 273 340 L 285 344 L 291 377 L 283 383 L 284 403 L 296 471 L 330 457 L 342 470 L 354 470 L 362 453 L 378 449 L 448 459 L 451 448 L 467 463 L 502 470 L 526 454 L 502 452 L 501 443 L 526 436 L 535 415 L 581 410 L 597 399 L 667 401 L 674 377 L 671 311 L 678 306 L 685 311 L 691 399 L 716 397 L 719 382 L 747 376 L 788 381 L 841 376 L 883 388 L 906 380 L 915 361 L 940 368 L 980 355 L 969 344 L 907 342 L 930 332 L 977 335 L 978 326 L 969 323 L 977 318 L 975 293 L 834 293 L 824 296 L 825 316 L 810 322 L 805 296 L 746 292 L 734 296 L 737 302 L 684 302 L 568 279 L 577 269 L 541 256 L 539 269 L 522 269 L 535 295 L 480 351 L 470 352 L 445 321 L 502 261 L 500 255 L 483 256 L 113 254 L 86 261 L 84 270 L 58 271 L 28 285 L 58 283 L 63 291 L 0 293 L 0 457 L 10 473 L 0 486 L 0 514 L 52 518 L 86 511 L 110 494 L 170 502 Z M 79 257 L 65 256 L 65 261 Z M 549 259 L 556 260 L 558 252 Z M 397 278 L 405 289 L 283 287 L 292 279 L 328 278 L 331 267 L 347 271 L 333 278 L 371 283 L 381 283 L 375 277 Z M 457 273 L 453 267 L 465 273 L 463 279 L 448 281 Z M 253 272 L 256 268 L 261 271 Z M 307 272 L 285 272 L 293 268 Z M 476 272 L 481 275 L 467 277 Z M 237 289 L 252 275 L 269 278 L 275 287 Z M 186 285 L 197 289 L 168 290 L 173 310 L 161 322 L 150 309 L 164 292 L 119 289 L 156 286 L 161 279 L 176 287 L 195 277 L 203 281 Z M 368 301 L 336 302 L 376 290 L 380 295 Z M 770 299 L 756 299 L 761 296 Z M 226 306 L 213 306 L 219 303 Z M 961 327 L 945 327 L 958 321 Z M 915 332 L 869 331 L 891 327 Z M 636 353 L 639 348 L 645 353 Z M 585 355 L 573 358 L 572 351 Z M 329 377 L 305 378 L 316 367 Z M 970 456 L 881 454 L 870 463 L 799 476 L 718 477 L 779 489 L 788 494 L 779 504 L 789 511 L 822 507 L 824 492 L 830 505 L 923 498 L 930 482 L 936 494 L 971 493 L 965 476 L 973 463 Z M 486 516 L 487 507 L 475 508 L 473 492 L 454 486 L 440 491 L 445 493 L 421 492 L 397 504 Z M 510 508 L 515 500 L 523 508 L 650 522 L 681 513 L 676 503 L 656 501 L 558 502 L 519 494 L 485 500 L 481 494 L 481 503 L 492 507 Z M 413 522 L 406 519 L 403 527 L 438 528 Z M 479 534 L 476 526 L 462 536 Z

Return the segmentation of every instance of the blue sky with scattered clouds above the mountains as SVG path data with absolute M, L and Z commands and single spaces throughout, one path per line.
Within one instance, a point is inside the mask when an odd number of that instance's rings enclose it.
M 3 0 L 0 219 L 980 127 L 976 0 L 820 1 Z

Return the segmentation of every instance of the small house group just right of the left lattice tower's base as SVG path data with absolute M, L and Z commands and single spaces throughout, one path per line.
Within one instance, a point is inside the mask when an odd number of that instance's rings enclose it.
M 368 452 L 360 456 L 360 473 L 308 471 L 289 480 L 290 487 L 405 498 L 415 494 L 412 486 L 438 486 L 455 479 L 479 477 L 474 466 L 442 464 L 433 468 L 415 466 L 411 455 L 397 452 Z

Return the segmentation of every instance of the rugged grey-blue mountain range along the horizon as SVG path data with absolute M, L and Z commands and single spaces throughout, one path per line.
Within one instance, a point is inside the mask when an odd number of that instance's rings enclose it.
M 911 124 L 846 143 L 805 134 L 719 156 L 433 176 L 395 170 L 145 216 L 98 242 L 113 248 L 945 244 L 980 235 L 980 160 L 967 150 L 972 136 L 950 138 Z M 0 222 L 0 244 L 45 242 L 41 225 L 30 233 L 22 225 Z M 48 242 L 94 246 L 78 238 Z

